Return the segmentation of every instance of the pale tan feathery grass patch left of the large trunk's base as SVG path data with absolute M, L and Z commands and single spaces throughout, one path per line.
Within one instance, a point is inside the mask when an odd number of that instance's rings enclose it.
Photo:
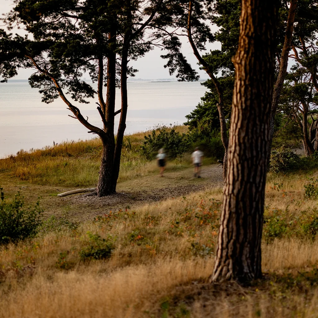
M 105 266 L 95 265 L 85 273 L 59 272 L 50 279 L 47 273 L 40 272 L 24 289 L 12 288 L 10 298 L 3 301 L 0 316 L 140 317 L 148 309 L 149 296 L 164 296 L 176 282 L 186 283 L 209 275 L 211 266 L 203 259 L 175 259 L 99 274 Z M 14 299 L 19 300 L 18 306 Z

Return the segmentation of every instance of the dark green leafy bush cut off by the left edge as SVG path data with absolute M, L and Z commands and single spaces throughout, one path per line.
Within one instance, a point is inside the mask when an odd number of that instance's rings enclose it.
M 12 201 L 6 201 L 3 188 L 0 190 L 0 245 L 34 237 L 41 225 L 39 201 L 34 207 L 24 208 L 19 192 Z

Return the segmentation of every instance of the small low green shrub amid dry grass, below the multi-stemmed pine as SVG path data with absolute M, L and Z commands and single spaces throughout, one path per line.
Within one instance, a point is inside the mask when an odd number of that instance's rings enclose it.
M 86 233 L 89 240 L 88 246 L 79 251 L 81 260 L 107 259 L 110 258 L 114 250 L 115 238 L 108 235 L 107 239 L 102 239 L 100 235 L 91 232 Z

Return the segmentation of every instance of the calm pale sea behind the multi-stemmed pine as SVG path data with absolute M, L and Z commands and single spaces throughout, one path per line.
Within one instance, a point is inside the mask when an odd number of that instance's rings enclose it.
M 144 131 L 157 124 L 182 124 L 204 95 L 201 82 L 129 82 L 128 118 L 126 134 Z M 89 121 L 101 127 L 96 110 L 96 100 L 90 104 L 78 104 Z M 117 92 L 116 109 L 120 108 L 120 91 Z M 89 139 L 96 135 L 71 114 L 62 100 L 51 104 L 41 102 L 37 89 L 28 83 L 0 84 L 0 158 L 16 154 L 20 149 L 37 149 L 54 142 Z M 115 118 L 115 131 L 119 116 Z

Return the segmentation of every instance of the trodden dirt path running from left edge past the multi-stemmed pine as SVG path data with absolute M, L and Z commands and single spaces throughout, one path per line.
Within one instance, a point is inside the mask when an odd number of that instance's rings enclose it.
M 135 206 L 165 200 L 170 197 L 187 196 L 190 193 L 223 186 L 222 168 L 217 164 L 203 166 L 202 178 L 193 177 L 193 169 L 186 168 L 175 171 L 170 166 L 165 176 L 149 175 L 133 180 L 118 183 L 117 194 L 108 197 L 85 197 L 73 195 L 60 198 L 58 193 L 73 190 L 61 186 L 38 185 L 27 181 L 21 181 L 9 174 L 1 174 L 1 186 L 5 195 L 14 197 L 21 189 L 26 205 L 34 204 L 41 196 L 41 207 L 44 210 L 43 217 L 51 215 L 56 217 L 67 214 L 73 221 L 92 220 L 97 215 L 103 215 L 110 210 L 118 211 L 127 206 Z

